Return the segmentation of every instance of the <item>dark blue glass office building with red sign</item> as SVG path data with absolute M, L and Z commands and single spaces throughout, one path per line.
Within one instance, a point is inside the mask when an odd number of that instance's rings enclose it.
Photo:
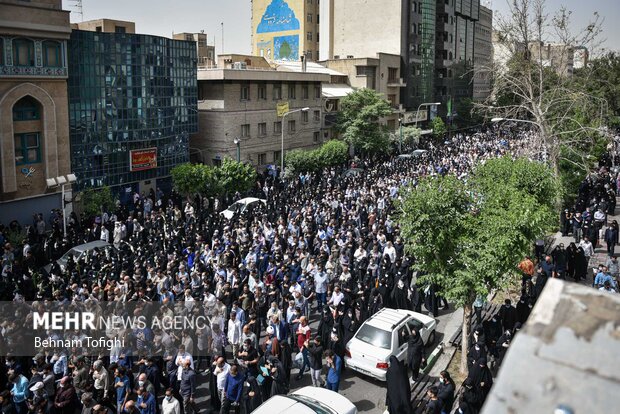
M 189 161 L 198 129 L 194 42 L 74 30 L 68 61 L 78 190 L 159 185 Z

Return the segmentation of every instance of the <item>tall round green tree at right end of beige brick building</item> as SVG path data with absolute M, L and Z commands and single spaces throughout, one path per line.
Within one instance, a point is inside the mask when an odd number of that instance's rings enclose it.
M 378 92 L 362 88 L 340 101 L 336 129 L 344 140 L 365 154 L 387 152 L 387 127 L 379 120 L 392 113 L 390 103 Z

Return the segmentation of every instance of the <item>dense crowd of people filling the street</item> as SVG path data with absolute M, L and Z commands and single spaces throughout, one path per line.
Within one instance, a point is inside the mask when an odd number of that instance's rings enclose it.
M 58 347 L 34 358 L 8 356 L 0 368 L 2 413 L 249 413 L 271 396 L 286 394 L 308 371 L 314 386 L 338 391 L 345 345 L 363 321 L 383 307 L 437 315 L 440 303 L 448 306 L 434 286 L 416 283 L 414 259 L 394 218 L 402 188 L 426 175 L 467 179 L 476 163 L 518 155 L 526 145 L 525 134 L 495 129 L 431 144 L 417 158 L 353 161 L 350 166 L 363 168 L 358 174 L 330 168 L 284 182 L 266 173 L 252 191 L 266 205 L 232 219 L 219 214 L 225 207 L 220 200 L 151 191 L 92 220 L 72 213 L 66 237 L 59 214 L 48 223 L 35 215 L 27 226 L 0 227 L 2 300 L 35 301 L 32 306 L 157 303 L 163 309 L 191 303 L 186 312 L 209 320 L 194 331 L 121 332 L 131 345 L 98 355 Z M 613 183 L 610 190 L 615 188 Z M 597 185 L 587 189 L 579 198 L 581 224 L 575 224 L 580 221 L 575 213 L 567 227 L 586 243 L 596 213 L 612 208 Z M 8 234 L 19 231 L 26 235 L 22 245 L 11 245 Z M 617 243 L 617 224 L 614 237 Z M 70 247 L 96 240 L 114 249 L 69 258 L 63 267 L 55 262 Z M 577 250 L 583 248 L 587 258 L 584 247 L 580 242 Z M 475 330 L 470 375 L 458 402 L 462 413 L 478 412 L 492 384 L 487 358 L 501 360 L 527 318 L 543 279 L 534 286 L 533 273 L 555 277 L 564 271 L 577 278 L 580 259 L 569 265 L 566 254 L 567 267 L 561 269 L 558 250 L 553 255 L 553 264 L 542 261 L 538 270 L 533 263 L 531 269 L 524 265 L 527 309 L 521 302 L 516 308 L 507 303 Z M 51 269 L 43 272 L 50 261 Z M 310 327 L 314 322 L 316 329 Z M 17 340 L 22 323 L 2 321 L 0 346 Z M 414 333 L 405 363 L 390 362 L 390 413 L 410 412 L 409 377 L 419 375 L 424 345 Z M 196 405 L 196 388 L 203 382 L 209 384 L 208 408 Z M 454 392 L 454 381 L 442 372 L 438 386 L 429 389 L 426 412 L 450 412 Z

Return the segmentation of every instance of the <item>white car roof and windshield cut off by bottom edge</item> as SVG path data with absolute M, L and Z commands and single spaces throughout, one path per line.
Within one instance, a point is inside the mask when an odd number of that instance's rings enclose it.
M 337 392 L 304 387 L 289 395 L 274 395 L 252 414 L 357 414 L 357 408 Z

